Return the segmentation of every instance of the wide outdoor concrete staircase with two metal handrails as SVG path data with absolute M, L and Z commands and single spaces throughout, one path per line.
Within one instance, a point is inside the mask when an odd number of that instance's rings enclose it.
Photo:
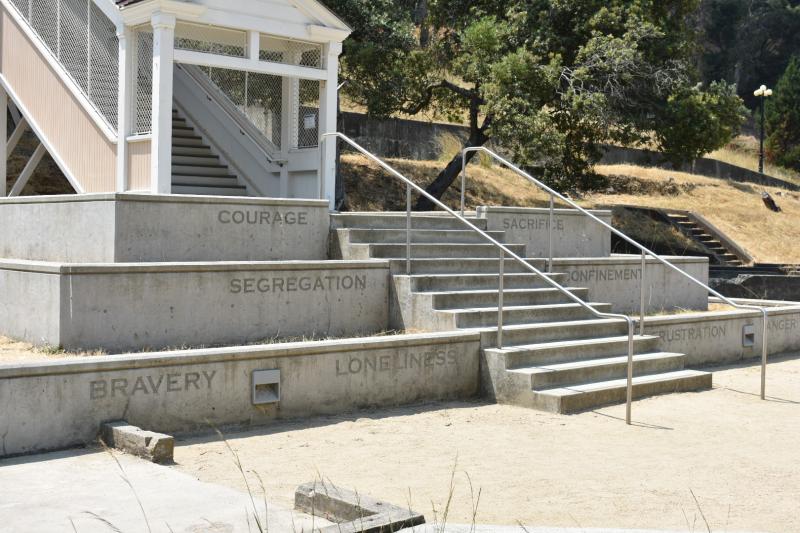
M 481 229 L 486 221 L 471 218 Z M 393 327 L 477 329 L 483 346 L 483 388 L 502 403 L 570 413 L 625 400 L 627 325 L 598 319 L 539 275 L 507 259 L 503 347 L 497 348 L 499 255 L 458 220 L 415 214 L 411 274 L 406 274 L 404 213 L 332 215 L 331 254 L 389 259 Z M 492 232 L 505 243 L 504 232 Z M 523 255 L 525 247 L 507 244 Z M 529 259 L 544 270 L 544 261 Z M 563 285 L 563 274 L 548 274 Z M 588 291 L 567 287 L 584 301 Z M 593 303 L 611 311 L 605 303 Z M 634 338 L 636 397 L 711 387 L 711 374 L 684 368 L 683 354 L 658 350 L 658 337 Z

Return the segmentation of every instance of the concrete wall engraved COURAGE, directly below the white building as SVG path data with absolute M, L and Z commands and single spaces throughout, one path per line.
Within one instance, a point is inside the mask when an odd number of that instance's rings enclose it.
M 327 259 L 324 200 L 150 194 L 0 199 L 0 257 L 58 262 Z

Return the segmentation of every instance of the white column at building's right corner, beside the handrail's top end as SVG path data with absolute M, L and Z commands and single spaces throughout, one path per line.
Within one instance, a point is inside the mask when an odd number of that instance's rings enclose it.
M 336 132 L 336 101 L 338 98 L 339 84 L 339 54 L 342 53 L 342 44 L 332 42 L 325 47 L 325 68 L 327 79 L 320 84 L 319 95 L 319 133 L 320 133 L 320 188 L 321 197 L 328 200 L 330 209 L 333 210 L 336 202 L 336 143 L 329 139 L 324 143 L 321 140 L 323 133 Z

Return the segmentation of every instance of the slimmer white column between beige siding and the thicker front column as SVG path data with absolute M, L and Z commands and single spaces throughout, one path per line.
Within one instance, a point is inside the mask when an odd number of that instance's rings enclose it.
M 129 188 L 128 178 L 128 135 L 131 133 L 131 114 L 136 95 L 136 72 L 133 70 L 133 57 L 136 53 L 134 42 L 136 32 L 129 26 L 117 27 L 119 39 L 119 83 L 117 97 L 117 192 Z

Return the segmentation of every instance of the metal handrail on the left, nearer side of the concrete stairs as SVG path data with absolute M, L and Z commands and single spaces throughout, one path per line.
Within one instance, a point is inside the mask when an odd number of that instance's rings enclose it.
M 528 263 L 525 259 L 518 256 L 514 252 L 512 252 L 508 247 L 500 243 L 499 241 L 492 238 L 491 235 L 486 233 L 485 231 L 478 228 L 476 225 L 472 224 L 469 220 L 464 218 L 463 210 L 462 214 L 459 215 L 437 198 L 429 194 L 425 189 L 420 187 L 419 185 L 412 182 L 410 179 L 406 178 L 398 171 L 393 169 L 388 164 L 384 163 L 380 158 L 376 157 L 375 155 L 371 154 L 368 150 L 360 146 L 354 140 L 350 139 L 346 135 L 339 133 L 339 132 L 331 132 L 331 133 L 323 133 L 321 135 L 320 140 L 320 147 L 329 139 L 342 139 L 347 144 L 352 146 L 356 151 L 360 152 L 362 155 L 366 156 L 369 160 L 376 163 L 382 169 L 389 172 L 392 176 L 399 179 L 403 183 L 406 184 L 406 274 L 411 274 L 411 190 L 414 189 L 419 194 L 433 202 L 438 207 L 444 209 L 447 213 L 451 216 L 455 217 L 459 220 L 462 224 L 470 228 L 472 231 L 480 235 L 484 240 L 489 241 L 493 246 L 499 248 L 500 250 L 500 272 L 499 272 L 499 290 L 497 296 L 497 347 L 503 347 L 503 277 L 504 277 L 504 266 L 505 266 L 505 258 L 506 256 L 510 257 L 517 263 L 523 265 L 527 270 L 530 272 L 537 274 L 545 283 L 549 284 L 554 289 L 558 290 L 559 292 L 566 295 L 569 299 L 580 305 L 581 307 L 590 311 L 594 316 L 598 318 L 610 318 L 616 319 L 620 321 L 624 321 L 628 325 L 628 380 L 627 380 L 627 396 L 626 396 L 626 409 L 625 409 L 625 421 L 627 424 L 631 423 L 631 403 L 633 400 L 633 337 L 634 337 L 634 329 L 635 324 L 634 320 L 629 316 L 616 314 L 616 313 L 604 313 L 602 311 L 598 311 L 590 304 L 584 302 L 565 287 L 561 286 L 558 282 L 551 279 L 550 276 L 539 270 L 538 268 L 534 267 L 530 263 Z

